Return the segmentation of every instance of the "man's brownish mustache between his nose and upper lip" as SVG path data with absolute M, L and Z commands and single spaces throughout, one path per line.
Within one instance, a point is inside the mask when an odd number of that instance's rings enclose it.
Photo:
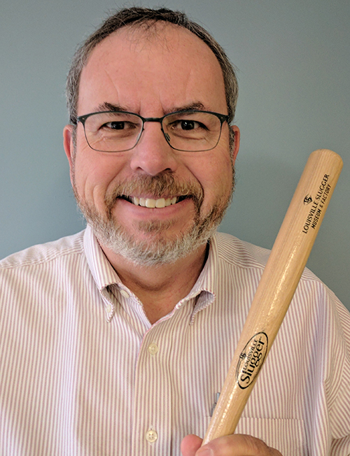
M 198 181 L 187 182 L 176 180 L 172 173 L 161 173 L 156 176 L 141 175 L 116 185 L 112 192 L 106 195 L 106 208 L 111 212 L 119 197 L 129 197 L 132 194 L 151 194 L 155 199 L 164 197 L 190 197 L 200 210 L 204 199 L 204 190 Z

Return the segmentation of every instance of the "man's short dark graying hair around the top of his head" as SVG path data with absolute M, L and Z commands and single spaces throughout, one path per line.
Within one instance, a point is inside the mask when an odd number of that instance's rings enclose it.
M 130 24 L 155 24 L 155 22 L 164 21 L 171 24 L 185 27 L 193 34 L 197 35 L 209 48 L 214 52 L 223 71 L 223 79 L 225 83 L 226 104 L 228 105 L 229 122 L 232 122 L 235 117 L 235 109 L 238 96 L 238 84 L 235 69 L 221 45 L 199 24 L 188 19 L 186 14 L 180 11 L 173 11 L 167 8 L 141 8 L 133 6 L 132 8 L 123 8 L 115 14 L 108 17 L 97 29 L 91 34 L 76 50 L 71 62 L 71 68 L 67 76 L 66 82 L 66 99 L 69 110 L 69 121 L 71 124 L 76 124 L 77 104 L 80 74 L 83 67 L 87 63 L 90 53 L 104 38 L 112 34 L 114 31 Z

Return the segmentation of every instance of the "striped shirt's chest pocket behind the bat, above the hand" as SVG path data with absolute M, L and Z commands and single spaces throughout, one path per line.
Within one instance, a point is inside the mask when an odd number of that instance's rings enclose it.
M 209 426 L 210 417 L 205 417 Z M 279 450 L 283 456 L 308 456 L 303 420 L 287 418 L 241 418 L 235 434 L 249 434 Z

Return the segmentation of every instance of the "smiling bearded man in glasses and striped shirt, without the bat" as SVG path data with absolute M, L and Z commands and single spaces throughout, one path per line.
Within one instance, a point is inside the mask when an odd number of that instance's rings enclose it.
M 239 434 L 200 448 L 268 255 L 215 233 L 239 149 L 220 46 L 121 10 L 67 93 L 88 226 L 1 262 L 1 454 L 348 455 L 350 318 L 309 271 Z

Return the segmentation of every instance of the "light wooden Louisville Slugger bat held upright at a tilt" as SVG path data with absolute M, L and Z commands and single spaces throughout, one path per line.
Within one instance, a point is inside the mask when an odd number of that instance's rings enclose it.
M 262 273 L 202 445 L 235 432 L 281 326 L 342 171 L 332 150 L 309 156 Z

